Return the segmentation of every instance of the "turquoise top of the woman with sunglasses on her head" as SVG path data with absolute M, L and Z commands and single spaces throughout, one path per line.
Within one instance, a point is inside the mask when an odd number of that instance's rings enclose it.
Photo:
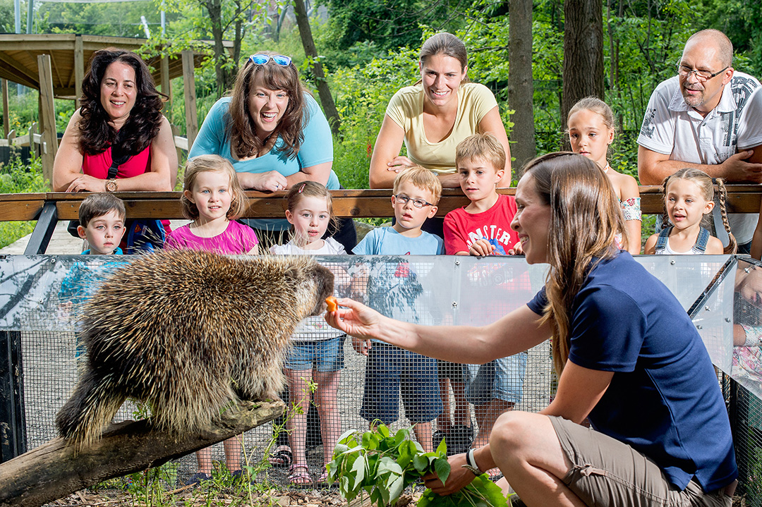
M 325 164 L 333 161 L 333 137 L 328 120 L 315 99 L 310 94 L 304 94 L 306 104 L 306 121 L 303 125 L 304 140 L 299 147 L 296 157 L 288 158 L 283 151 L 277 151 L 283 146 L 283 139 L 278 137 L 273 148 L 265 155 L 249 160 L 240 161 L 232 156 L 230 138 L 227 126 L 230 109 L 230 97 L 223 97 L 216 101 L 204 118 L 198 136 L 188 152 L 188 158 L 198 155 L 219 155 L 233 164 L 237 173 L 264 173 L 278 171 L 283 176 L 296 174 L 303 167 Z M 325 185 L 328 190 L 338 190 L 339 181 L 336 173 L 331 169 L 331 176 Z M 285 230 L 290 227 L 286 220 L 251 220 L 252 227 Z

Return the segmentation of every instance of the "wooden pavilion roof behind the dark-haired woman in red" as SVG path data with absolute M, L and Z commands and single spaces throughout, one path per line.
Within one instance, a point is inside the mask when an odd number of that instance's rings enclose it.
M 75 49 L 78 39 L 82 40 L 82 53 L 85 69 L 92 53 L 104 47 L 114 46 L 136 51 L 147 39 L 130 37 L 102 37 L 95 35 L 77 35 L 75 33 L 34 33 L 0 34 L 0 78 L 8 79 L 30 88 L 40 89 L 40 74 L 37 69 L 37 56 L 50 55 L 53 66 L 53 94 L 59 98 L 75 98 Z M 200 66 L 203 59 L 211 56 L 211 43 L 207 43 L 210 51 L 196 50 L 194 67 Z M 225 41 L 228 51 L 232 51 L 232 42 Z M 156 86 L 162 85 L 159 65 L 160 59 L 154 57 L 146 60 L 152 68 Z M 177 78 L 183 74 L 181 54 L 169 56 L 169 78 Z

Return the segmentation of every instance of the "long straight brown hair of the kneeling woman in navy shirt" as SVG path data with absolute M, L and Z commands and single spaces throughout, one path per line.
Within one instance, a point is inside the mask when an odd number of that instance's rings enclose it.
M 619 253 L 616 235 L 625 235 L 624 216 L 604 171 L 582 155 L 549 153 L 530 161 L 523 174 L 551 209 L 542 321 L 553 330 L 553 365 L 561 375 L 571 345 L 571 305 L 590 269 Z

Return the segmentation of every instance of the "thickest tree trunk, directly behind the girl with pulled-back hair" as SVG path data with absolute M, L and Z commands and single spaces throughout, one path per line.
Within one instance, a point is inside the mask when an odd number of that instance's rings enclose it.
M 584 97 L 604 99 L 604 6 L 602 0 L 564 2 L 564 94 L 562 126 Z

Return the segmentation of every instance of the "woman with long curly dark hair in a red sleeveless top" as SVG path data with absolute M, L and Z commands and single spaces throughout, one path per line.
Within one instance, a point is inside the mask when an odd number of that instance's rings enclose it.
M 56 192 L 171 191 L 178 158 L 164 99 L 146 62 L 123 49 L 93 54 L 53 164 Z

